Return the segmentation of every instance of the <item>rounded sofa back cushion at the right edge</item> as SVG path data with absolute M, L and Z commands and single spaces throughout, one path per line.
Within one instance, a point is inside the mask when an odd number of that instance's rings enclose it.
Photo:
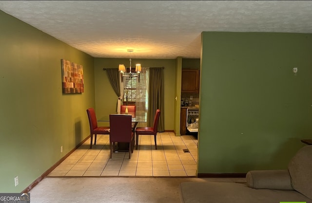
M 300 148 L 288 165 L 292 187 L 312 199 L 312 146 Z

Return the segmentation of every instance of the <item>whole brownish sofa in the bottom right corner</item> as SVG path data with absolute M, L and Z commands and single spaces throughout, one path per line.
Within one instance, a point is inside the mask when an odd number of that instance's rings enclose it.
M 184 182 L 181 203 L 312 203 L 312 146 L 299 149 L 288 169 L 249 171 L 246 182 Z

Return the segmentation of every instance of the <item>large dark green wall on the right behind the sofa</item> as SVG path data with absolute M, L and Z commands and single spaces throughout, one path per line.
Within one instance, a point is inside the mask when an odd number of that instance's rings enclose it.
M 311 58 L 311 34 L 202 33 L 198 173 L 287 167 L 312 135 Z

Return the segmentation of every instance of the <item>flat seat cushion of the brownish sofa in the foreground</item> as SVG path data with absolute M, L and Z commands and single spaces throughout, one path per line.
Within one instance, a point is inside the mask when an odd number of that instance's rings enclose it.
M 312 203 L 295 190 L 254 189 L 238 183 L 184 182 L 180 197 L 181 203 Z

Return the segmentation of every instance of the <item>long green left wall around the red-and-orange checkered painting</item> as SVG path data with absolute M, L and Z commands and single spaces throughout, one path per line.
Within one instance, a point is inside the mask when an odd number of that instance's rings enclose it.
M 2 11 L 0 30 L 0 192 L 21 192 L 90 134 L 94 59 Z M 62 58 L 83 65 L 84 93 L 62 94 Z

